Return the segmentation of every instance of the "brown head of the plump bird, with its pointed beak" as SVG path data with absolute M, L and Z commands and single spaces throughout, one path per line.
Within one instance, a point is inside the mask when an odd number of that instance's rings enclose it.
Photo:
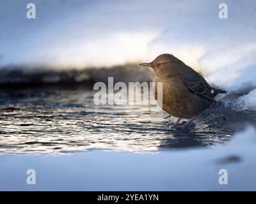
M 141 63 L 141 66 L 149 66 L 150 68 L 154 69 L 154 71 L 160 71 L 164 69 L 170 69 L 170 66 L 173 63 L 181 62 L 179 59 L 174 57 L 171 54 L 161 54 L 154 61 L 149 63 Z

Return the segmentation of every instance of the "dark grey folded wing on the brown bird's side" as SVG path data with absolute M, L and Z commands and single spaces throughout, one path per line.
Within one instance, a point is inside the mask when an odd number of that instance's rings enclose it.
M 189 71 L 187 75 L 183 75 L 182 82 L 193 94 L 217 103 L 214 99 L 214 96 L 216 96 L 215 90 L 205 81 L 204 77 L 202 77 L 200 74 L 194 71 Z

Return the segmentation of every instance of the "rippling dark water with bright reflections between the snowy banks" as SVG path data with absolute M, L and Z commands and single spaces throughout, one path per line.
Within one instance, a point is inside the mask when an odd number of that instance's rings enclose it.
M 170 128 L 174 119 L 163 111 L 146 105 L 95 105 L 94 93 L 85 86 L 2 90 L 1 153 L 159 151 L 207 147 L 230 138 L 216 110 L 181 131 Z

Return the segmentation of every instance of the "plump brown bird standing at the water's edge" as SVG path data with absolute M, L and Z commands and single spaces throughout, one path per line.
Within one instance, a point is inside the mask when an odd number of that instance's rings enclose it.
M 156 73 L 156 99 L 157 83 L 163 83 L 161 106 L 165 112 L 177 117 L 172 128 L 185 129 L 212 103 L 218 103 L 215 100 L 216 95 L 227 93 L 225 90 L 211 87 L 200 73 L 172 54 L 161 54 L 154 61 L 140 65 L 150 67 Z M 189 120 L 180 123 L 181 119 Z

